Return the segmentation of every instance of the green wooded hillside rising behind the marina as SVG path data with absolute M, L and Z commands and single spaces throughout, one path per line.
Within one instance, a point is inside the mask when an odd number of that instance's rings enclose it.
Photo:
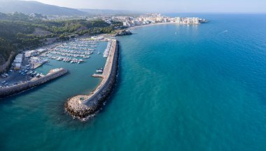
M 6 61 L 11 51 L 38 47 L 48 40 L 68 40 L 75 34 L 112 33 L 121 25 L 121 22 L 108 24 L 101 19 L 48 20 L 39 14 L 0 13 L 0 58 Z

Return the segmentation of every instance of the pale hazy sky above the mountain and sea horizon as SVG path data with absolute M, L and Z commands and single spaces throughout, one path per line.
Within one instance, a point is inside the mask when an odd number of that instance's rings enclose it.
M 69 8 L 161 13 L 266 13 L 266 0 L 37 0 Z

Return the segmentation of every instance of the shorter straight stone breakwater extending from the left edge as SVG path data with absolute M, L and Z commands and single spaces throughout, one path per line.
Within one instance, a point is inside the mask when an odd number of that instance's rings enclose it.
M 50 72 L 44 77 L 40 77 L 38 79 L 32 79 L 31 81 L 27 81 L 25 83 L 18 84 L 16 86 L 0 88 L 0 97 L 7 97 L 9 95 L 15 95 L 16 93 L 20 93 L 23 90 L 28 90 L 29 88 L 32 88 L 34 86 L 45 84 L 46 82 L 51 81 L 52 79 L 56 79 L 57 77 L 63 76 L 67 72 L 68 71 L 63 68 L 54 69 L 54 70 L 50 70 Z

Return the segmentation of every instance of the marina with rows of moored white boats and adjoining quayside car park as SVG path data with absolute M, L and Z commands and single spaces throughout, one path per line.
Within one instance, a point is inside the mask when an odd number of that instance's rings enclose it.
M 74 72 L 76 65 L 83 68 L 83 72 L 89 67 L 88 74 L 92 75 L 97 68 L 104 66 L 106 58 L 102 54 L 106 45 L 107 40 L 79 38 L 24 51 L 16 57 L 10 71 L 1 74 L 0 88 L 12 89 L 41 79 L 55 68 L 64 68 Z

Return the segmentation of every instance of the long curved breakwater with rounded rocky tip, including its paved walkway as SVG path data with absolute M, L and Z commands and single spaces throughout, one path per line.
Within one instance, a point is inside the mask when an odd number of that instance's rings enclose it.
M 103 74 L 94 74 L 94 77 L 102 77 L 102 82 L 89 95 L 78 95 L 67 100 L 65 104 L 66 111 L 79 119 L 87 118 L 87 116 L 99 111 L 116 84 L 118 56 L 118 42 L 113 40 Z

